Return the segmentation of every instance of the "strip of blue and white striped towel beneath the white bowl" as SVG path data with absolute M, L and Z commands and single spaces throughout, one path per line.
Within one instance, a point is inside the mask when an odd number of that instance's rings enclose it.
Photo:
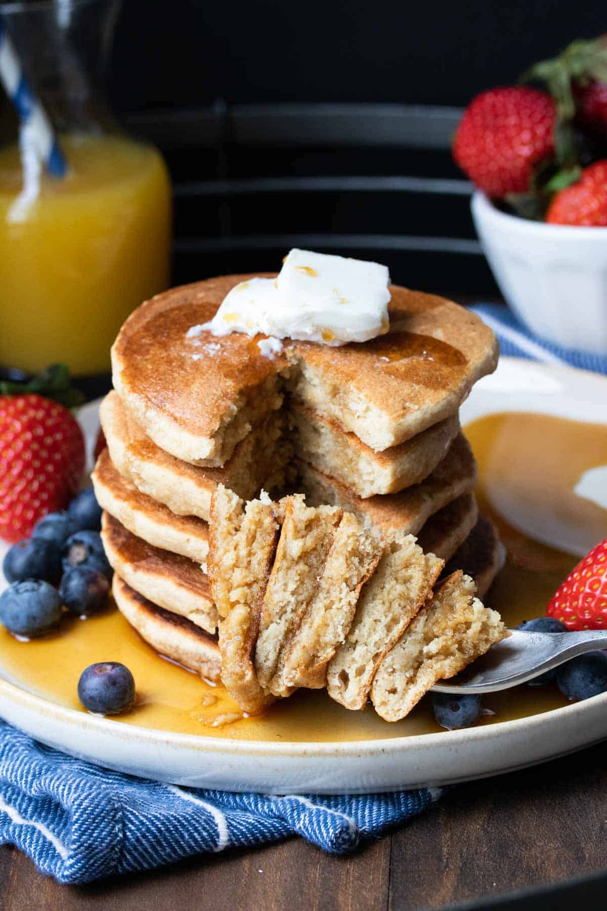
M 607 374 L 607 355 L 561 348 L 561 345 L 538 338 L 517 320 L 510 308 L 504 307 L 503 304 L 478 303 L 470 307 L 470 310 L 478 313 L 481 319 L 491 326 L 500 340 L 502 354 L 545 363 L 568 363 L 571 367 L 579 367 L 581 370 Z

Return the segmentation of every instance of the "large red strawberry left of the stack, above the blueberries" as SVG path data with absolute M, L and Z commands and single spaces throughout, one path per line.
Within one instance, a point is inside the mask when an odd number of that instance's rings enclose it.
M 76 494 L 85 441 L 62 404 L 35 393 L 0 395 L 0 537 L 19 541 Z

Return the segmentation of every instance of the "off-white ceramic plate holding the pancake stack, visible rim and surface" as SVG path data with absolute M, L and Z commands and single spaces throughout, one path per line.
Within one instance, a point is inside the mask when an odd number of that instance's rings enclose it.
M 519 410 L 598 423 L 607 420 L 606 403 L 602 376 L 502 358 L 497 372 L 475 386 L 461 418 L 466 424 Z M 92 435 L 95 407 L 82 419 Z M 604 479 L 596 473 L 589 482 L 598 500 Z M 158 732 L 66 709 L 5 680 L 0 716 L 60 750 L 160 781 L 265 793 L 371 793 L 510 772 L 599 742 L 607 737 L 607 693 L 517 721 L 365 742 L 245 742 Z

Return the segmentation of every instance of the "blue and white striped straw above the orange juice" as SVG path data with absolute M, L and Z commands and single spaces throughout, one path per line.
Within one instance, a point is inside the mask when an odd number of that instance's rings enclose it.
M 23 74 L 15 48 L 6 34 L 0 17 L 0 81 L 6 94 L 15 105 L 28 139 L 33 144 L 38 158 L 53 177 L 65 177 L 67 172 L 64 158 L 50 120 L 44 107 L 35 97 Z

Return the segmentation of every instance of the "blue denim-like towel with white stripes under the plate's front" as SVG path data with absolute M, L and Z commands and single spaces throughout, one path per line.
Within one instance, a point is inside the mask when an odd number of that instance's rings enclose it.
M 302 835 L 332 854 L 404 825 L 439 789 L 327 797 L 150 782 L 67 756 L 0 722 L 0 844 L 60 883 Z

